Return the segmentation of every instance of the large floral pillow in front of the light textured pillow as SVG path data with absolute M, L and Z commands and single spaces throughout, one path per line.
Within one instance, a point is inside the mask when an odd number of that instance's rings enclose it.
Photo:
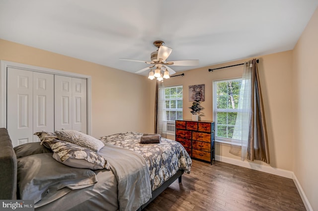
M 110 169 L 107 160 L 90 149 L 57 139 L 46 142 L 54 151 L 53 158 L 65 165 L 93 170 Z

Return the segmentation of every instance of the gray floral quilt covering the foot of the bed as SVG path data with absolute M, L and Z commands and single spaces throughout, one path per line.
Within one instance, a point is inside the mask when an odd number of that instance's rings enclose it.
M 192 160 L 183 146 L 169 139 L 160 143 L 140 143 L 142 133 L 126 132 L 100 137 L 99 140 L 141 154 L 148 163 L 152 190 L 157 189 L 179 169 L 190 173 Z

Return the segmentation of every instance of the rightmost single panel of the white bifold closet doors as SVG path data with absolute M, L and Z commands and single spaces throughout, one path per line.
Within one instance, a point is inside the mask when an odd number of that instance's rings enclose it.
M 86 79 L 72 78 L 72 105 L 72 129 L 86 134 Z

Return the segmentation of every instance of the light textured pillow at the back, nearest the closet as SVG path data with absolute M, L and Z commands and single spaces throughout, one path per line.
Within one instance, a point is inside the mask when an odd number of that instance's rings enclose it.
M 101 149 L 105 145 L 102 141 L 95 139 L 94 137 L 88 136 L 86 134 L 83 134 L 79 131 L 62 130 L 55 131 L 55 134 L 59 138 L 59 140 L 74 143 L 96 152 L 99 151 L 99 149 Z

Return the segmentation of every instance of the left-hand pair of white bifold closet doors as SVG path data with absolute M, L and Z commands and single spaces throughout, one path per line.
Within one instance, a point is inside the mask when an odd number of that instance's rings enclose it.
M 13 146 L 54 132 L 54 75 L 7 68 L 7 129 Z

